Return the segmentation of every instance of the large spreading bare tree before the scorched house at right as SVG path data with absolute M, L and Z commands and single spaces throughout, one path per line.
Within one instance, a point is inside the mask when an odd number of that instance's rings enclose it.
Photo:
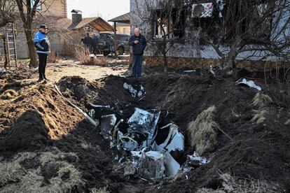
M 223 69 L 236 69 L 236 59 L 289 61 L 289 0 L 220 1 L 219 16 L 200 38 L 212 45 Z M 210 33 L 214 31 L 214 34 Z

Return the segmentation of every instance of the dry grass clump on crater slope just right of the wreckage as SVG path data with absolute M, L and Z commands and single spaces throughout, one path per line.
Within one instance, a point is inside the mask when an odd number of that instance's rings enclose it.
M 216 130 L 219 129 L 219 124 L 214 121 L 215 113 L 216 107 L 209 107 L 188 124 L 191 146 L 195 147 L 199 155 L 211 149 L 216 143 Z

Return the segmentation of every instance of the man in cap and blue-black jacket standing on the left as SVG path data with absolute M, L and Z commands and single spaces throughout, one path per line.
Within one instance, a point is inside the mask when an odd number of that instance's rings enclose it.
M 48 27 L 42 24 L 41 27 L 39 27 L 39 31 L 34 36 L 34 45 L 39 55 L 39 81 L 48 80 L 46 78 L 46 63 L 48 54 L 50 53 L 50 42 L 46 36 L 47 33 Z

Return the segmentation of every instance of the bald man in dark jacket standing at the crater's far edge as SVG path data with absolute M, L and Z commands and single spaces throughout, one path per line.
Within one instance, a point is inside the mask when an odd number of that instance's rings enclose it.
M 143 62 L 143 54 L 147 42 L 145 36 L 140 34 L 139 28 L 134 29 L 134 35 L 129 39 L 129 45 L 132 46 L 132 76 L 141 76 L 141 68 Z

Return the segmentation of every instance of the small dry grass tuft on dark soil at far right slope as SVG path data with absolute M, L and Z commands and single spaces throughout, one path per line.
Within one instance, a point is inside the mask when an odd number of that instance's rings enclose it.
M 257 110 L 253 110 L 254 117 L 251 122 L 256 122 L 256 124 L 262 124 L 266 120 L 266 115 L 268 115 L 268 106 L 272 103 L 272 99 L 267 94 L 257 93 L 254 96 L 252 106 L 255 106 Z

